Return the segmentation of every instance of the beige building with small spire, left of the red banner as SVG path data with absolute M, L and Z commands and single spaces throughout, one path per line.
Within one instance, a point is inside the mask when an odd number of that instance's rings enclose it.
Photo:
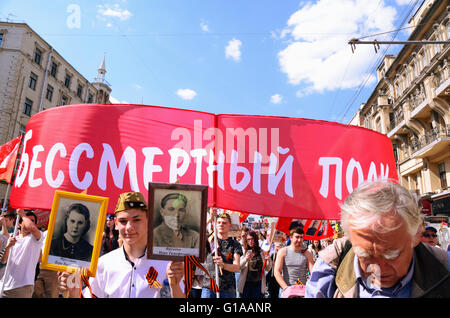
M 25 23 L 0 22 L 0 145 L 34 114 L 68 104 L 110 103 L 105 59 L 90 82 Z M 0 183 L 3 199 L 6 184 Z

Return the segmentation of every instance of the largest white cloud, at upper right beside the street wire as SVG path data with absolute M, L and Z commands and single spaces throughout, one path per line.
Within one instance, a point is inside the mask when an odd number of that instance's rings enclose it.
M 395 29 L 395 17 L 393 7 L 383 3 L 378 6 L 378 1 L 307 3 L 291 15 L 281 32 L 280 37 L 288 41 L 287 47 L 278 53 L 281 71 L 286 73 L 290 84 L 300 86 L 299 97 L 357 87 L 366 78 L 367 84 L 373 83 L 375 78 L 367 74 L 374 61 L 373 47 L 360 45 L 352 53 L 348 41 Z

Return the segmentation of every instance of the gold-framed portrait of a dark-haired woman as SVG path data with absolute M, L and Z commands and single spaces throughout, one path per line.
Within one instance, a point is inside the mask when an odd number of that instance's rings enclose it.
M 95 277 L 108 198 L 55 191 L 41 268 L 61 272 L 89 269 Z

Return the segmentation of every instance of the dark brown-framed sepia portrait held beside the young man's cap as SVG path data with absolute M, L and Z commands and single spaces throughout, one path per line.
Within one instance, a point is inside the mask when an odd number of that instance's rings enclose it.
M 208 186 L 149 183 L 147 257 L 205 260 Z

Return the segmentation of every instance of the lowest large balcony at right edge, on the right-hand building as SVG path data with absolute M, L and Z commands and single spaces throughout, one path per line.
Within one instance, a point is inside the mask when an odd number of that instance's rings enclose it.
M 442 151 L 450 146 L 450 125 L 439 126 L 426 132 L 411 142 L 412 158 L 424 158 Z

